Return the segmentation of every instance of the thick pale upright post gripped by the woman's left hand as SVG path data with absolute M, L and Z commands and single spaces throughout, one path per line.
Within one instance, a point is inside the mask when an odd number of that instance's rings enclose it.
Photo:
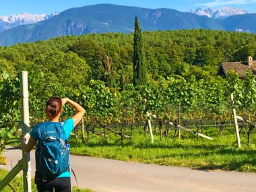
M 22 135 L 28 133 L 29 128 L 29 110 L 28 110 L 28 72 L 20 72 L 20 97 L 22 101 Z M 31 192 L 31 167 L 30 153 L 22 151 L 22 167 L 23 167 L 23 185 L 24 192 Z

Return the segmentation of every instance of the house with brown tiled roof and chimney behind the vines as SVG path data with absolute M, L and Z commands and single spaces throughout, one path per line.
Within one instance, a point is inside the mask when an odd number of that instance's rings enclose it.
M 256 74 L 256 61 L 253 61 L 253 57 L 247 57 L 247 61 L 242 62 L 227 62 L 221 63 L 217 75 L 220 75 L 222 78 L 226 78 L 229 71 L 234 71 L 238 73 L 241 78 L 245 77 L 246 71 L 251 69 L 253 73 Z

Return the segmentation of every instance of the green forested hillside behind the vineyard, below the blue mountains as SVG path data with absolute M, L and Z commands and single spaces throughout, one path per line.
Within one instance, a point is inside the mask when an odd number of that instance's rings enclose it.
M 148 78 L 215 77 L 220 62 L 256 57 L 256 35 L 212 30 L 143 32 Z M 119 88 L 133 78 L 133 34 L 87 34 L 0 47 L 0 71 L 44 74 L 44 82 L 78 87 L 90 79 Z M 67 81 L 68 84 L 67 84 Z

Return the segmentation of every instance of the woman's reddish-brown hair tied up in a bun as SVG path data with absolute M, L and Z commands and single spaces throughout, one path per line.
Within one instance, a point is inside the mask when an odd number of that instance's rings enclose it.
M 51 97 L 46 102 L 45 113 L 48 115 L 49 119 L 55 118 L 62 108 L 61 98 Z

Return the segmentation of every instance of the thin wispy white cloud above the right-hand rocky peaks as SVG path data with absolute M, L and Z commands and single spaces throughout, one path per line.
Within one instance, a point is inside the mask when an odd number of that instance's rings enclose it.
M 209 3 L 198 3 L 197 5 L 204 6 L 204 7 L 218 7 L 222 5 L 245 5 L 249 3 L 256 3 L 256 0 L 215 0 Z

